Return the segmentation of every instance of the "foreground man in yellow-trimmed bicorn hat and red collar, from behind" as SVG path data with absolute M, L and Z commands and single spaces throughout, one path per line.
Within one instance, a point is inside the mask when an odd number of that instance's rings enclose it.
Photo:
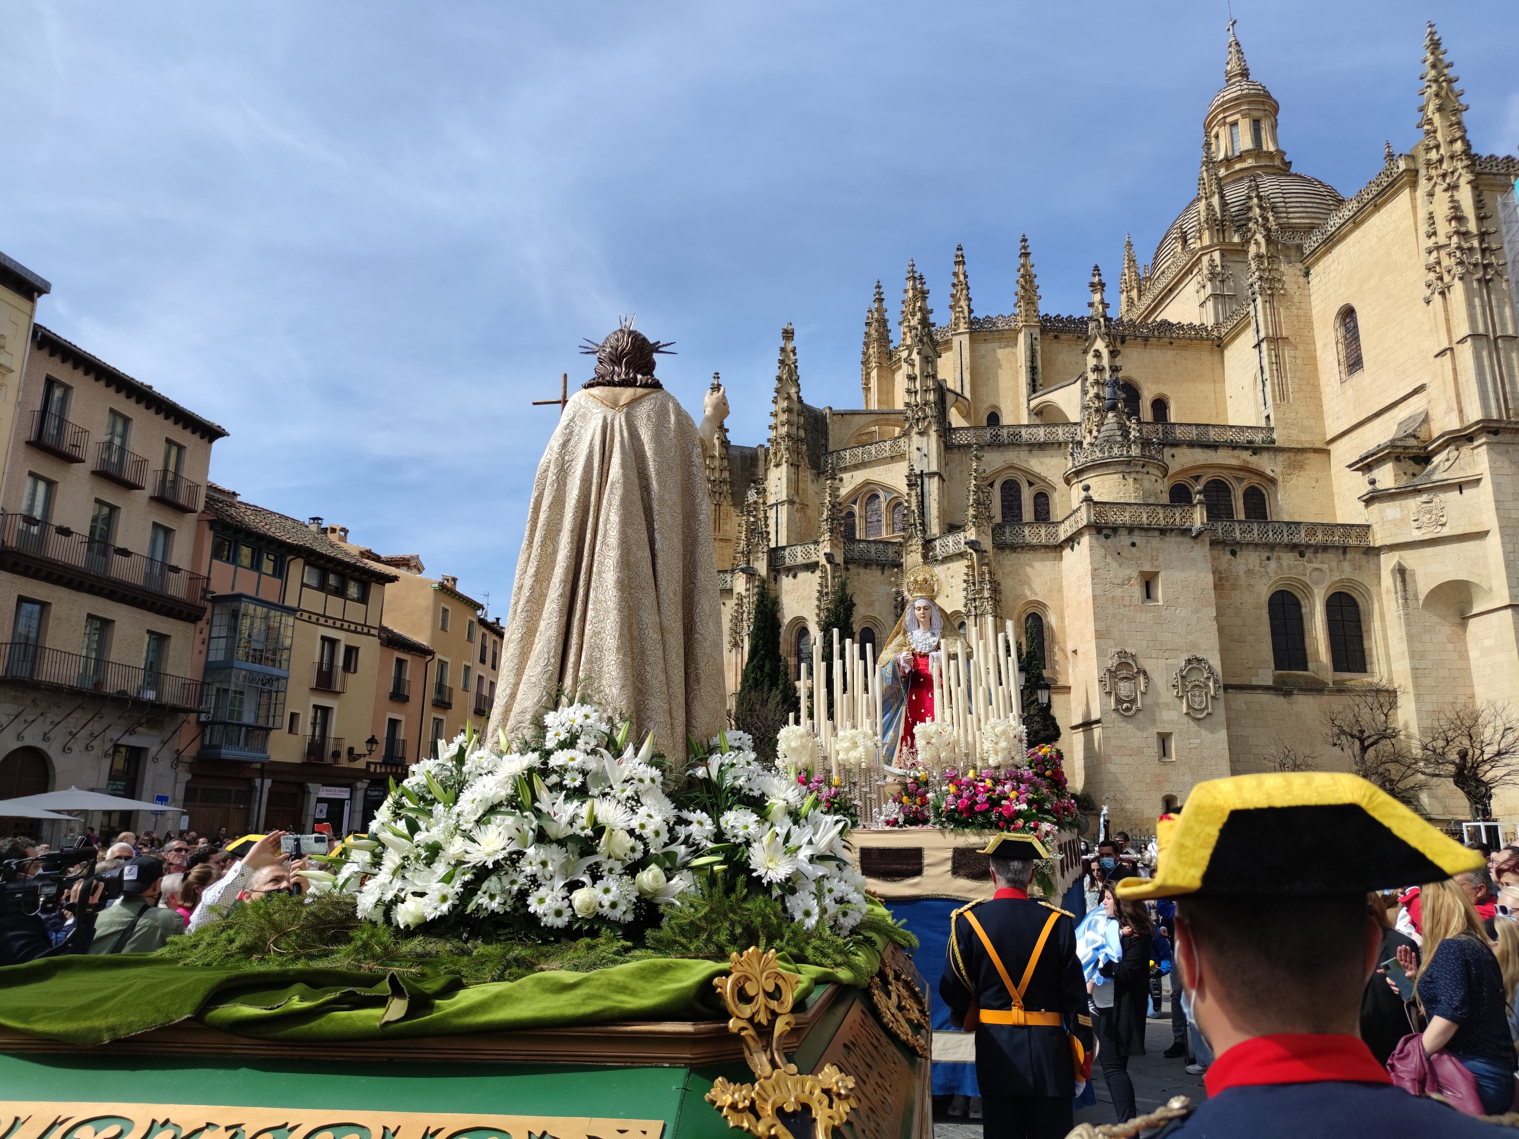
M 1156 876 L 1120 882 L 1118 896 L 1176 899 L 1176 972 L 1217 1054 L 1206 1103 L 1156 1113 L 1167 1136 L 1498 1134 L 1396 1087 L 1360 1036 L 1382 949 L 1367 893 L 1446 881 L 1481 855 L 1367 781 L 1328 771 L 1197 784 L 1157 843 Z

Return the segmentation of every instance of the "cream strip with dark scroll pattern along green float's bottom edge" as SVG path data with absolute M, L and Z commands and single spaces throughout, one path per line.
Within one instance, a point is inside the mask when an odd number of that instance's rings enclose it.
M 213 1107 L 0 1100 L 6 1139 L 661 1139 L 664 1119 L 577 1119 L 489 1112 L 351 1112 L 343 1107 Z

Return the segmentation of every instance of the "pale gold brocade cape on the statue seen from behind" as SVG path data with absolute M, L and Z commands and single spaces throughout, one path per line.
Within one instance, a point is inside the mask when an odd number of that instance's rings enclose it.
M 632 717 L 638 737 L 653 729 L 676 759 L 688 732 L 715 735 L 726 705 L 714 565 L 685 409 L 662 389 L 570 396 L 533 481 L 488 746 L 503 727 L 526 734 L 561 686 Z

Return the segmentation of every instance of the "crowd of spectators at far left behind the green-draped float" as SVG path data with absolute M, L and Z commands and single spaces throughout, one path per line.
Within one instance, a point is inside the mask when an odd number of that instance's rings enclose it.
M 102 902 L 109 878 L 120 881 L 118 896 L 91 913 L 93 907 L 79 905 L 76 887 L 62 907 L 8 916 L 0 964 L 62 954 L 153 952 L 172 937 L 225 917 L 235 905 L 302 893 L 299 872 L 310 869 L 307 860 L 281 852 L 281 831 L 231 840 L 225 828 L 214 835 L 123 831 L 114 840 L 88 826 L 82 834 L 79 841 L 70 832 L 59 847 L 79 852 L 77 861 L 64 860 L 67 872 L 77 876 L 93 860 L 94 904 Z M 0 843 L 0 864 L 14 867 L 14 879 L 41 875 L 49 853 L 49 844 L 26 837 Z

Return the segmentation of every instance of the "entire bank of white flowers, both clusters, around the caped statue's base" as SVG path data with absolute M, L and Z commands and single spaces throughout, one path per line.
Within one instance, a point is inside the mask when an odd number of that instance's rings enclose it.
M 810 929 L 860 922 L 846 814 L 761 764 L 743 732 L 718 735 L 709 755 L 693 741 L 688 787 L 667 791 L 653 738 L 635 753 L 629 729 L 570 705 L 545 714 L 538 747 L 495 755 L 462 735 L 392 781 L 369 834 L 307 878 L 404 929 L 652 925 L 714 875 L 753 879 Z

